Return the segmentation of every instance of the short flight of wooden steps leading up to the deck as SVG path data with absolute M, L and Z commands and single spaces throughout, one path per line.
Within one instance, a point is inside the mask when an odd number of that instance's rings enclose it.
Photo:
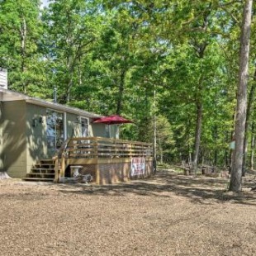
M 54 182 L 55 162 L 53 159 L 43 159 L 31 168 L 30 173 L 26 173 L 24 181 L 33 182 Z

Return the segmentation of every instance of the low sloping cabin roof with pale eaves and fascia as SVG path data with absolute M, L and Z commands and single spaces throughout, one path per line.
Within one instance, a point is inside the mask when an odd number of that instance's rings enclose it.
M 14 101 L 21 101 L 21 100 L 26 101 L 27 103 L 35 104 L 37 106 L 49 107 L 56 111 L 64 111 L 64 112 L 73 113 L 79 116 L 86 116 L 89 118 L 102 117 L 98 114 L 88 112 L 88 111 L 83 111 L 76 107 L 68 107 L 55 102 L 47 102 L 40 98 L 29 97 L 20 92 L 14 92 L 11 90 L 0 88 L 0 102 L 14 102 Z

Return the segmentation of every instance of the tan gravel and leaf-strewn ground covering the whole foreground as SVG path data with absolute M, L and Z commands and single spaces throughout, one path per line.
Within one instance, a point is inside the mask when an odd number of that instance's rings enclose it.
M 0 180 L 0 255 L 256 255 L 256 192 L 159 171 L 109 186 Z

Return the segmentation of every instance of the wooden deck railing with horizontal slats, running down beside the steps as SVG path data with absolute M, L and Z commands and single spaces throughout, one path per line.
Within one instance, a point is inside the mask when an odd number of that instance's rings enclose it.
M 55 181 L 64 176 L 65 169 L 69 165 L 104 163 L 104 159 L 109 163 L 111 159 L 125 161 L 125 159 L 152 157 L 153 148 L 150 143 L 102 137 L 71 138 L 64 143 L 58 157 L 56 156 Z

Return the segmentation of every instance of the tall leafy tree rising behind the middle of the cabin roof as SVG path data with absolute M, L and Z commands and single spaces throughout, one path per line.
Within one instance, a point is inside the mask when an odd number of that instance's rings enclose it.
M 99 12 L 97 1 L 55 0 L 45 8 L 45 57 L 59 102 L 69 103 L 73 88 L 83 83 L 85 59 L 100 31 Z

